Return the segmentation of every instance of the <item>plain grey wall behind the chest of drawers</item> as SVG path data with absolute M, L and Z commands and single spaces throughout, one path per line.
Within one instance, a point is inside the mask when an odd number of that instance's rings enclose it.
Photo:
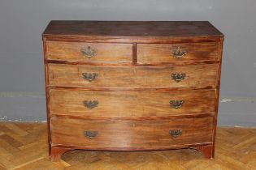
M 51 19 L 209 20 L 225 34 L 219 125 L 256 125 L 254 0 L 1 0 L 0 121 L 45 121 L 41 32 Z

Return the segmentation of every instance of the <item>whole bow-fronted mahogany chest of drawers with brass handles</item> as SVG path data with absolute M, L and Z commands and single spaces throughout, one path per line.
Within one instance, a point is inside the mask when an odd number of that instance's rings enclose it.
M 51 21 L 50 159 L 74 149 L 215 153 L 223 34 L 209 22 Z

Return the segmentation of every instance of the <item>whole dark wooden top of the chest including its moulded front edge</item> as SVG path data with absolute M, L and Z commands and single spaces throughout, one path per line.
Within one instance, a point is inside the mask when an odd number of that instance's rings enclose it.
M 223 39 L 223 34 L 208 21 L 51 21 L 42 36 L 47 40 L 94 43 L 194 43 Z

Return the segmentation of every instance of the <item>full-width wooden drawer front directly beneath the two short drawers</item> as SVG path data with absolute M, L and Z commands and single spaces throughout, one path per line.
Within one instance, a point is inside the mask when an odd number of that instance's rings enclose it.
M 101 88 L 215 87 L 218 65 L 82 66 L 49 64 L 50 86 Z

